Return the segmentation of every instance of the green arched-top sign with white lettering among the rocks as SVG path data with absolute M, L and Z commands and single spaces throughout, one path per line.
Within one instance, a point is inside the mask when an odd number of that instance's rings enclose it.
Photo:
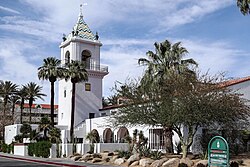
M 229 167 L 229 147 L 221 136 L 213 137 L 208 144 L 208 166 Z

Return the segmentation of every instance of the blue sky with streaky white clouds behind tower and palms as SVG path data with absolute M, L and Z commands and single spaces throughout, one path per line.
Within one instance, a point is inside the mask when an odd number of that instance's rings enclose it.
M 181 41 L 202 72 L 250 75 L 250 16 L 234 0 L 1 0 L 0 79 L 37 82 L 49 102 L 49 83 L 38 80 L 37 68 L 46 57 L 60 57 L 62 34 L 71 32 L 83 3 L 85 21 L 103 43 L 102 64 L 109 66 L 104 96 L 115 81 L 140 76 L 137 60 L 165 39 Z

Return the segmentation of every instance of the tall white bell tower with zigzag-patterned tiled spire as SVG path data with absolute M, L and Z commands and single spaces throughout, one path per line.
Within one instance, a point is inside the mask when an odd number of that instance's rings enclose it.
M 108 74 L 108 67 L 100 65 L 102 43 L 98 38 L 98 35 L 94 35 L 89 29 L 80 12 L 73 31 L 63 37 L 60 45 L 62 64 L 71 60 L 83 61 L 88 72 L 88 81 L 76 84 L 74 126 L 89 118 L 89 113 L 95 113 L 95 117 L 98 117 L 102 107 L 102 79 Z M 68 129 L 71 121 L 71 96 L 70 80 L 60 80 L 58 125 L 66 125 Z

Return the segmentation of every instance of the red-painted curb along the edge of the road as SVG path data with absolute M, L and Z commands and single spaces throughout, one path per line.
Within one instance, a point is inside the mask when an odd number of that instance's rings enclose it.
M 42 161 L 42 160 L 35 160 L 35 159 L 28 159 L 28 158 L 12 157 L 12 156 L 7 156 L 7 155 L 0 155 L 0 157 L 16 159 L 16 160 L 23 160 L 23 161 L 29 161 L 29 162 L 36 162 L 36 163 L 40 163 L 40 164 L 69 166 L 69 167 L 87 167 L 87 166 L 80 166 L 80 165 L 75 165 L 75 164 L 66 164 L 66 163 L 60 163 L 60 162 L 51 162 L 51 161 Z

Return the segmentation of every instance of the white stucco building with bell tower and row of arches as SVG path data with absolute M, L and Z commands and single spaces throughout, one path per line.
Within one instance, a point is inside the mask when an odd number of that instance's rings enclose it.
M 150 148 L 162 149 L 164 137 L 161 127 L 117 128 L 110 124 L 109 115 L 116 112 L 119 106 L 102 108 L 102 79 L 108 74 L 108 67 L 101 65 L 100 47 L 102 43 L 98 38 L 98 35 L 94 35 L 89 29 L 83 20 L 82 13 L 80 13 L 73 31 L 60 44 L 63 64 L 67 64 L 71 60 L 80 60 L 86 63 L 88 71 L 88 81 L 76 85 L 75 137 L 78 142 L 85 142 L 86 135 L 94 130 L 98 132 L 100 142 L 119 143 L 124 142 L 126 135 L 132 136 L 133 131 L 138 129 L 144 132 L 145 137 L 148 137 Z M 250 77 L 225 82 L 224 86 L 238 90 L 244 94 L 245 98 L 250 99 Z M 62 129 L 63 143 L 67 143 L 70 139 L 71 93 L 71 82 L 60 80 L 58 127 Z M 90 117 L 91 119 L 89 119 Z M 178 136 L 174 134 L 173 143 L 178 141 Z

